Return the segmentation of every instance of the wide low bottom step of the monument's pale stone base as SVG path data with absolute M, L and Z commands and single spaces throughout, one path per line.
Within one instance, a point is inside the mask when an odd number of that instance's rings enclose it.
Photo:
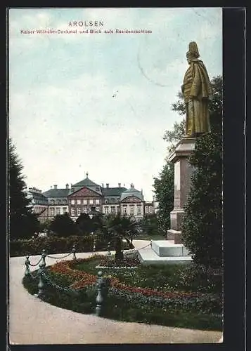
M 141 249 L 139 252 L 139 260 L 142 265 L 168 265 L 174 263 L 191 263 L 191 256 L 157 256 L 157 253 L 151 248 Z

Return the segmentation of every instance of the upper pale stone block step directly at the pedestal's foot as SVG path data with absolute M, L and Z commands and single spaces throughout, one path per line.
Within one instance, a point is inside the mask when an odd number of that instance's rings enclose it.
M 152 249 L 160 257 L 189 256 L 183 244 L 174 244 L 174 240 L 153 240 Z

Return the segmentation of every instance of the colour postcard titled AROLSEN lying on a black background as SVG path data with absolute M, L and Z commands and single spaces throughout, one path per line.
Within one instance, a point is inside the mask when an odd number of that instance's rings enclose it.
M 10 344 L 222 341 L 221 277 L 185 282 L 180 227 L 222 8 L 10 8 L 8 65 L 10 186 L 30 201 L 11 193 Z

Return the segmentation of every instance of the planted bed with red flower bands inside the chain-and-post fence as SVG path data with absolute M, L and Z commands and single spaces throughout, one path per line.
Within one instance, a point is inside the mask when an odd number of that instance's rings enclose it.
M 63 291 L 47 284 L 44 300 L 76 312 L 94 313 L 96 265 L 101 259 L 94 256 L 47 267 L 46 276 L 51 282 L 72 290 Z M 103 317 L 191 329 L 222 329 L 219 276 L 207 279 L 193 265 L 139 265 L 134 270 L 103 270 L 103 274 L 111 282 Z M 30 293 L 37 292 L 34 279 L 25 277 L 23 284 Z

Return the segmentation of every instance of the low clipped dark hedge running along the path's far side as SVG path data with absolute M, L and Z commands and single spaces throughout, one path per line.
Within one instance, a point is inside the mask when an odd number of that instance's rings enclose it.
M 34 239 L 17 239 L 10 241 L 10 256 L 38 255 L 45 249 L 46 253 L 70 253 L 72 246 L 76 246 L 76 252 L 89 252 L 94 249 L 94 236 L 85 237 L 44 237 Z M 106 251 L 108 243 L 96 238 L 96 251 Z M 110 249 L 114 247 L 110 246 Z M 123 249 L 129 249 L 124 244 Z

